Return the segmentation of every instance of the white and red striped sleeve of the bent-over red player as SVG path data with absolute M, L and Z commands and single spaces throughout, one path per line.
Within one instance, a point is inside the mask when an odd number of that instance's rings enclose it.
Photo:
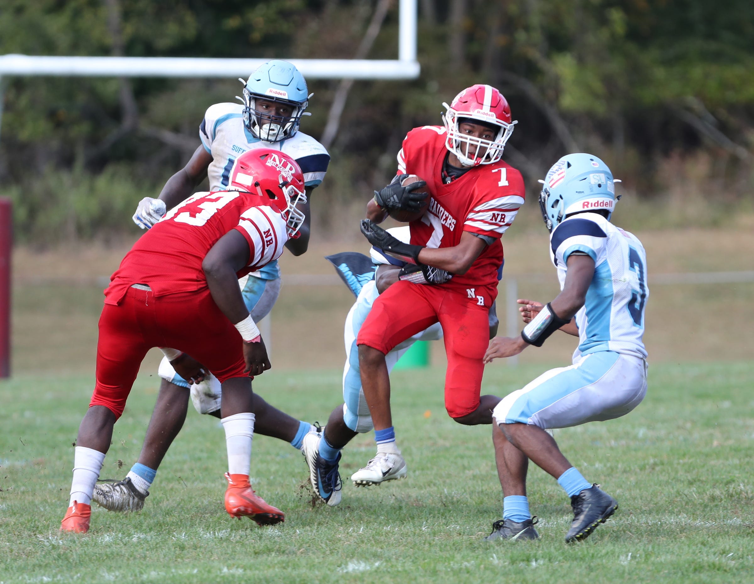
M 234 228 L 249 243 L 249 267 L 259 269 L 283 253 L 288 240 L 285 221 L 277 209 L 270 206 L 253 206 L 241 213 Z

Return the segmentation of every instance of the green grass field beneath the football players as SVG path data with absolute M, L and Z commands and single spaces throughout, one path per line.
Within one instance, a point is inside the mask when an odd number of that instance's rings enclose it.
M 541 365 L 492 365 L 483 391 L 504 395 Z M 270 371 L 256 390 L 291 414 L 326 419 L 340 371 Z M 225 442 L 215 418 L 189 413 L 143 512 L 95 508 L 86 536 L 58 534 L 72 442 L 90 376 L 0 383 L 0 582 L 750 582 L 754 580 L 754 365 L 654 365 L 632 414 L 557 430 L 566 456 L 621 503 L 584 543 L 567 546 L 568 500 L 529 472 L 538 542 L 484 543 L 501 517 L 489 427 L 443 410 L 443 371 L 394 375 L 394 420 L 405 481 L 356 489 L 341 506 L 311 504 L 302 456 L 254 439 L 259 494 L 287 520 L 261 528 L 222 505 Z M 116 424 L 103 477 L 121 478 L 139 452 L 155 377 L 136 382 Z M 426 412 L 430 412 L 428 415 Z M 372 436 L 345 450 L 347 477 L 371 457 Z M 123 468 L 120 468 L 121 464 Z

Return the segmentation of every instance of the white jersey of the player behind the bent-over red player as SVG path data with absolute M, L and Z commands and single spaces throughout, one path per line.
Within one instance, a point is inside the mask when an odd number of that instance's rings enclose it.
M 274 148 L 288 154 L 299 163 L 308 187 L 322 182 L 329 164 L 329 154 L 323 145 L 303 132 L 280 142 L 263 142 L 244 126 L 243 112 L 241 103 L 216 103 L 210 105 L 201 121 L 199 138 L 213 157 L 207 169 L 210 191 L 224 190 L 235 159 L 253 148 Z

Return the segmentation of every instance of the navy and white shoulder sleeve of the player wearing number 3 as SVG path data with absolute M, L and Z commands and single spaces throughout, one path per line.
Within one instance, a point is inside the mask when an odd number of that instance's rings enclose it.
M 550 235 L 550 249 L 556 268 L 565 267 L 573 252 L 589 255 L 595 264 L 604 259 L 608 236 L 599 219 L 607 221 L 596 213 L 581 213 L 569 217 L 553 230 Z

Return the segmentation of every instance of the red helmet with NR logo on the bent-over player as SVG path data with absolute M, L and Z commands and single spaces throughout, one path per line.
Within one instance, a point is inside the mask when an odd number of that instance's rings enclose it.
M 280 209 L 288 237 L 299 237 L 305 216 L 296 205 L 306 203 L 304 174 L 288 154 L 271 148 L 244 152 L 233 164 L 228 191 L 256 192 L 267 197 Z

